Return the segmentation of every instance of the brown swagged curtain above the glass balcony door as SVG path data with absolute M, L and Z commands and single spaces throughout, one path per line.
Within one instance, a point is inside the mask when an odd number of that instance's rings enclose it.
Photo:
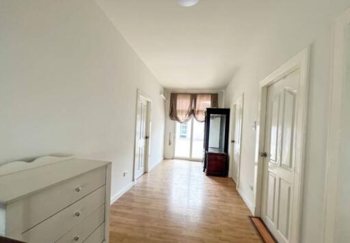
M 186 123 L 192 115 L 198 122 L 204 122 L 205 109 L 218 107 L 217 94 L 174 94 L 170 96 L 170 119 Z

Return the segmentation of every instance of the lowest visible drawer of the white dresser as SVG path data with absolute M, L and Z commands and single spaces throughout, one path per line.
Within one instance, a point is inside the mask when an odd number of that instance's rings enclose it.
M 83 222 L 66 235 L 59 238 L 56 243 L 83 242 L 105 221 L 105 205 L 101 205 L 96 211 L 88 216 Z

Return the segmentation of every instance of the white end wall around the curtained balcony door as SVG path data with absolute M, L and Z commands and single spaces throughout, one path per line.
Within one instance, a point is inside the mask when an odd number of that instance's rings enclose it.
M 165 102 L 165 139 L 164 139 L 164 158 L 166 159 L 172 159 L 174 158 L 174 133 L 175 133 L 175 122 L 172 121 L 169 118 L 169 111 L 170 111 L 170 94 L 172 92 L 180 92 L 183 90 L 172 90 L 167 89 L 165 90 L 165 98 L 167 99 L 167 102 Z M 184 93 L 217 93 L 218 94 L 218 100 L 219 100 L 219 107 L 224 107 L 224 98 L 225 94 L 224 91 L 198 91 L 198 90 L 185 90 Z

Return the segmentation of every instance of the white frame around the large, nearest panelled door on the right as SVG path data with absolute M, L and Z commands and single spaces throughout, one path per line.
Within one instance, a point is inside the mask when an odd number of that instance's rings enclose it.
M 303 195 L 303 177 L 304 177 L 304 156 L 306 143 L 306 122 L 307 122 L 307 106 L 308 106 L 308 72 L 310 48 L 307 47 L 292 59 L 284 63 L 280 68 L 275 70 L 267 78 L 260 81 L 260 100 L 258 106 L 258 121 L 256 127 L 256 154 L 254 166 L 254 216 L 260 216 L 261 199 L 262 199 L 262 172 L 264 158 L 260 157 L 260 153 L 264 152 L 265 142 L 265 119 L 267 105 L 267 87 L 279 81 L 281 78 L 288 76 L 291 72 L 299 69 L 299 89 L 297 103 L 297 136 L 295 147 L 295 163 L 293 190 L 291 204 L 291 242 L 299 242 L 300 225 L 301 225 L 301 202 Z

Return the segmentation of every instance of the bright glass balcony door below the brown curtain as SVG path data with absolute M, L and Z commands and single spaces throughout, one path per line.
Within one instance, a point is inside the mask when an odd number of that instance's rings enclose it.
M 203 159 L 204 122 L 191 119 L 186 124 L 176 122 L 175 158 Z

